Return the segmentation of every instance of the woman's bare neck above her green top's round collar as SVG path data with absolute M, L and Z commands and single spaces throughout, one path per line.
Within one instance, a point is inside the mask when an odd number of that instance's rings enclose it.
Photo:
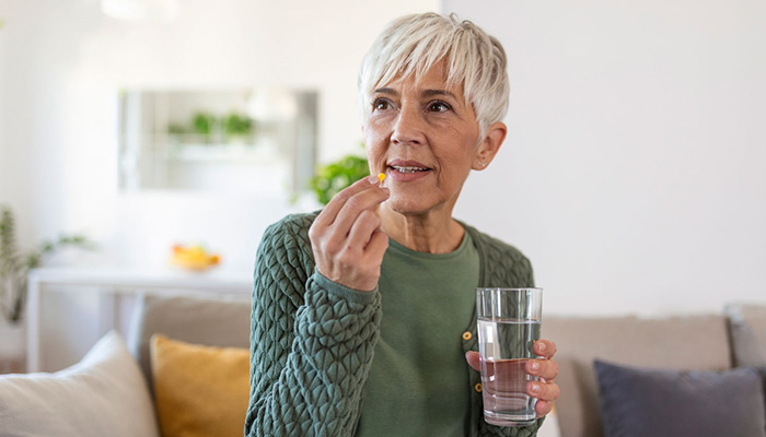
M 388 238 L 418 252 L 449 253 L 457 249 L 465 234 L 451 211 L 402 214 L 384 203 L 379 212 L 383 221 L 381 228 Z

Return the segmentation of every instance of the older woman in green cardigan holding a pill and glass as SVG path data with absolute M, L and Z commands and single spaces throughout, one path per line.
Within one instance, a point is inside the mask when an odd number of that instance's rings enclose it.
M 359 78 L 373 176 L 258 247 L 247 435 L 536 433 L 541 421 L 484 421 L 475 352 L 475 288 L 532 286 L 531 264 L 452 217 L 506 138 L 508 93 L 502 47 L 471 22 L 416 14 L 379 36 Z M 534 347 L 542 417 L 559 392 L 556 346 Z

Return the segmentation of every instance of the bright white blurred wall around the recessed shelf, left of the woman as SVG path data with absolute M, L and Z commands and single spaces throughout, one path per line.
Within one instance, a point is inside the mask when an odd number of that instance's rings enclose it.
M 249 274 L 285 198 L 118 194 L 120 87 L 317 88 L 320 160 L 361 141 L 356 75 L 385 23 L 437 0 L 181 0 L 172 23 L 125 23 L 96 0 L 4 0 L 0 13 L 0 202 L 31 246 L 83 232 L 89 262 L 164 265 L 174 241 L 205 241 Z

